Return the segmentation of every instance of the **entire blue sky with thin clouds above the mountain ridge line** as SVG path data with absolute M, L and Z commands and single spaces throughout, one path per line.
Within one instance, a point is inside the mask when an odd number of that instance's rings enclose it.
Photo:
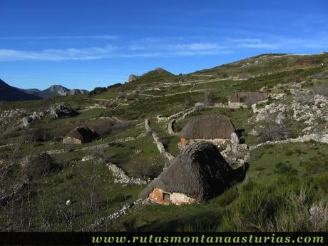
M 0 0 L 0 78 L 92 89 L 162 67 L 328 50 L 328 1 Z

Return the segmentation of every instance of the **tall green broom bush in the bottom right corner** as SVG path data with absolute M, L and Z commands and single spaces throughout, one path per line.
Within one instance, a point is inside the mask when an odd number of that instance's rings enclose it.
M 324 219 L 316 220 L 309 212 L 318 204 L 318 198 L 319 193 L 313 186 L 299 181 L 289 181 L 287 185 L 284 182 L 273 185 L 246 183 L 217 230 L 325 230 L 327 206 L 320 212 Z

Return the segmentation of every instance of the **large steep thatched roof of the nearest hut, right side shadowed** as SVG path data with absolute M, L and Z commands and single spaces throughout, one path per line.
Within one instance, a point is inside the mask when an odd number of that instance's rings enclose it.
M 235 171 L 212 143 L 188 144 L 173 163 L 139 194 L 148 198 L 154 188 L 169 193 L 183 193 L 190 198 L 213 198 L 230 186 Z

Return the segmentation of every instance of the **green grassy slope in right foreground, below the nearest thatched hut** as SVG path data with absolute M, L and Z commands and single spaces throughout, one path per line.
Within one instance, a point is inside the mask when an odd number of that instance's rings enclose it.
M 207 231 L 245 230 L 242 226 L 248 225 L 248 230 L 261 230 L 251 225 L 264 225 L 266 219 L 282 223 L 279 212 L 287 209 L 295 212 L 296 205 L 289 200 L 293 193 L 306 190 L 308 200 L 304 206 L 328 195 L 327 148 L 317 143 L 297 143 L 292 148 L 285 144 L 259 148 L 254 153 L 255 161 L 250 165 L 247 179 L 217 198 L 193 205 L 150 205 L 122 217 L 111 228 Z M 321 163 L 319 168 L 317 163 Z M 272 202 L 276 207 L 265 207 L 272 198 L 277 198 Z M 255 203 L 254 206 L 251 203 Z M 240 223 L 239 219 L 245 221 Z M 288 228 L 295 229 L 292 225 Z

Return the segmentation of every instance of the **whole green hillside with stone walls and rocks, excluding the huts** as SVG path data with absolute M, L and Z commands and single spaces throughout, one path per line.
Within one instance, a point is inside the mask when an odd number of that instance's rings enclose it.
M 263 54 L 185 75 L 157 68 L 89 95 L 1 103 L 0 230 L 327 231 L 327 71 L 328 54 Z M 270 97 L 231 107 L 234 91 Z M 168 161 L 152 133 L 174 157 L 180 130 L 204 114 L 235 125 L 238 150 L 218 148 L 232 168 L 249 164 L 245 179 L 191 205 L 138 200 Z M 98 137 L 62 143 L 82 125 Z

